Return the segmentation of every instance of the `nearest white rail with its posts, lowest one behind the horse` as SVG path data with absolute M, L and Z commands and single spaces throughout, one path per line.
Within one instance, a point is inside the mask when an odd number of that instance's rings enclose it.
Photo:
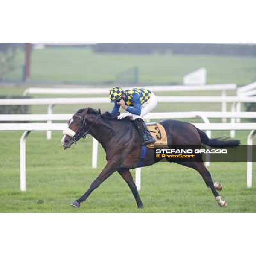
M 251 130 L 247 138 L 248 161 L 247 161 L 247 187 L 252 186 L 252 147 L 253 135 L 256 133 L 256 123 L 196 123 L 194 124 L 201 130 Z M 24 131 L 20 138 L 20 189 L 26 191 L 26 137 L 31 131 L 62 131 L 67 128 L 67 124 L 52 123 L 2 123 L 0 131 Z M 93 151 L 94 152 L 94 151 Z M 94 153 L 93 153 L 94 154 Z M 136 185 L 140 190 L 140 170 L 137 169 Z M 138 183 L 139 181 L 139 183 Z

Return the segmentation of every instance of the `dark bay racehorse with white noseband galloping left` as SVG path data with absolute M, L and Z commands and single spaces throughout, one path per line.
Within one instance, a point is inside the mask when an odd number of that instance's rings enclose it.
M 142 140 L 133 122 L 127 118 L 117 120 L 108 112 L 101 114 L 100 111 L 92 108 L 84 108 L 76 112 L 69 121 L 69 127 L 64 130 L 62 145 L 64 149 L 70 148 L 80 138 L 92 135 L 105 150 L 107 164 L 99 176 L 91 183 L 89 189 L 72 202 L 73 207 L 79 207 L 88 196 L 104 180 L 113 174 L 119 172 L 125 182 L 131 189 L 137 203 L 137 207 L 143 208 L 143 203 L 137 191 L 130 169 L 138 166 L 140 161 L 140 151 Z M 166 130 L 169 137 L 172 138 L 172 145 L 209 145 L 215 148 L 234 148 L 240 144 L 239 140 L 221 140 L 219 138 L 209 139 L 207 135 L 188 122 L 175 120 L 161 121 L 160 124 Z M 172 162 L 172 160 L 168 160 Z M 154 150 L 148 149 L 145 155 L 143 166 L 154 164 Z M 227 206 L 227 202 L 221 199 L 216 190 L 221 190 L 219 183 L 213 183 L 209 171 L 204 166 L 203 161 L 195 162 L 175 162 L 183 166 L 195 169 L 199 172 L 207 187 L 209 187 L 215 196 L 215 200 L 220 206 Z

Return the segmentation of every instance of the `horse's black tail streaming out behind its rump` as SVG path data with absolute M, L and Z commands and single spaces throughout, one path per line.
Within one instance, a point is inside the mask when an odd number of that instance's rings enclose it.
M 240 145 L 240 140 L 228 140 L 225 137 L 210 139 L 207 136 L 207 134 L 205 134 L 203 131 L 201 131 L 198 128 L 196 128 L 196 129 L 199 133 L 201 143 L 204 145 L 208 145 L 213 148 L 236 148 Z

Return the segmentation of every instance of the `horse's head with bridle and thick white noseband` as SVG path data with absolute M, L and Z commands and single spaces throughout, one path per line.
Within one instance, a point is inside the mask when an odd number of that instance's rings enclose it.
M 63 148 L 70 148 L 73 143 L 85 138 L 99 116 L 100 112 L 92 108 L 79 109 L 68 121 L 68 128 L 63 131 L 64 136 L 61 140 Z

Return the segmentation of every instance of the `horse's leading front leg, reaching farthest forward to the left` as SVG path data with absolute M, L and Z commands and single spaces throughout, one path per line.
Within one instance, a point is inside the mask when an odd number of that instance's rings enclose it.
M 79 207 L 80 204 L 88 198 L 88 196 L 91 194 L 91 192 L 93 192 L 94 189 L 96 189 L 104 180 L 106 180 L 111 174 L 113 174 L 113 172 L 118 169 L 118 162 L 119 161 L 117 161 L 116 159 L 109 160 L 99 176 L 96 177 L 95 180 L 93 180 L 93 183 L 91 183 L 89 189 L 84 193 L 84 195 L 82 195 L 76 201 L 73 201 L 71 203 L 71 206 Z

